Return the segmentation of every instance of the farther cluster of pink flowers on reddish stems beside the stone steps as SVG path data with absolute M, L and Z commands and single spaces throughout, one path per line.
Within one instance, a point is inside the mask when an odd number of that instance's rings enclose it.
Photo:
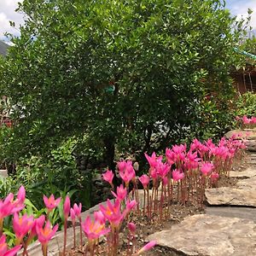
M 217 186 L 219 177 L 229 176 L 233 160 L 241 154 L 241 150 L 244 148 L 246 148 L 244 141 L 237 139 L 236 136 L 230 139 L 223 137 L 218 143 L 212 143 L 212 139 L 208 139 L 204 143 L 194 139 L 189 147 L 186 144 L 181 144 L 166 148 L 165 155 L 145 154 L 149 170 L 148 174 L 143 174 L 141 177 L 136 176 L 131 161 L 119 161 L 117 169 L 126 188 L 129 183 L 133 183 L 135 188 L 133 194 L 137 201 L 139 200 L 137 185 L 138 182 L 142 184 L 145 193 L 144 207 L 148 205 L 148 217 L 150 217 L 152 209 L 160 208 L 154 206 L 159 189 L 161 189 L 160 195 L 163 197 L 160 201 L 164 201 L 166 204 L 170 204 L 170 201 L 186 203 L 193 200 L 202 203 L 204 200 L 203 190 L 206 187 Z M 113 172 L 108 170 L 103 174 L 103 179 L 112 184 Z M 145 202 L 146 193 L 149 193 L 150 180 L 152 180 L 152 192 L 147 196 L 147 202 Z M 175 183 L 177 189 L 175 190 L 176 195 L 173 196 L 173 184 Z M 193 194 L 201 195 L 201 197 L 195 198 Z M 123 196 L 125 197 L 125 195 Z

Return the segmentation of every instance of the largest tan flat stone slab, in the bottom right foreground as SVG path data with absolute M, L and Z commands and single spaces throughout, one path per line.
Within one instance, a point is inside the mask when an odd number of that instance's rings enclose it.
M 256 255 L 256 224 L 243 218 L 198 214 L 170 230 L 156 232 L 147 241 L 189 256 Z

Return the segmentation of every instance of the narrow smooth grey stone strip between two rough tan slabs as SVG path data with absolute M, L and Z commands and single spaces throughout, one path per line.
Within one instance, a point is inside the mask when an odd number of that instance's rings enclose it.
M 250 207 L 206 207 L 208 215 L 228 218 L 247 218 L 256 223 L 256 208 Z

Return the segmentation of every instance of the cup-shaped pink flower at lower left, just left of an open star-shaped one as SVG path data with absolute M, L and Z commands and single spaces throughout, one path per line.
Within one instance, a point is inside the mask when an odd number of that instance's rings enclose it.
M 34 218 L 32 216 L 27 217 L 26 214 L 19 217 L 18 213 L 15 212 L 13 219 L 13 227 L 15 231 L 15 236 L 17 238 L 17 243 L 20 243 L 26 233 L 29 230 L 32 230 L 32 226 L 34 223 Z

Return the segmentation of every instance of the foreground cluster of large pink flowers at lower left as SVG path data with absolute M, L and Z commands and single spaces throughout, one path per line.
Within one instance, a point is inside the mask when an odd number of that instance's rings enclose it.
M 116 193 L 113 192 L 115 200 L 107 201 L 107 205 L 100 205 L 100 210 L 94 212 L 93 218 L 87 217 L 84 221 L 81 218 L 82 204 L 74 204 L 71 207 L 68 195 L 63 202 L 63 216 L 64 216 L 64 248 L 62 255 L 66 253 L 67 243 L 67 218 L 72 219 L 73 230 L 75 231 L 75 220 L 79 219 L 80 224 L 80 242 L 81 249 L 84 247 L 82 239 L 82 231 L 88 239 L 88 244 L 85 247 L 84 253 L 90 252 L 93 255 L 94 249 L 100 236 L 108 236 L 109 255 L 116 255 L 118 249 L 118 234 L 121 224 L 128 218 L 130 212 L 136 207 L 135 200 L 129 200 L 127 197 L 127 190 L 123 185 L 119 186 Z M 51 223 L 51 212 L 59 206 L 61 197 L 55 199 L 54 195 L 49 198 L 44 195 L 44 204 L 47 215 L 42 214 L 38 218 L 28 216 L 26 213 L 22 214 L 21 210 L 26 207 L 26 190 L 23 186 L 20 187 L 16 199 L 13 194 L 9 194 L 4 200 L 0 200 L 0 256 L 14 256 L 23 248 L 23 255 L 28 255 L 27 246 L 37 237 L 37 240 L 42 245 L 43 255 L 48 255 L 49 241 L 55 236 L 58 230 L 58 224 Z M 15 232 L 15 247 L 9 248 L 6 242 L 6 235 L 3 231 L 4 218 L 13 215 L 13 230 Z M 75 234 L 74 234 L 75 235 Z M 74 247 L 77 247 L 74 236 Z M 146 247 L 139 250 L 139 253 L 153 247 L 155 242 L 150 242 Z M 137 254 L 135 254 L 137 255 Z

